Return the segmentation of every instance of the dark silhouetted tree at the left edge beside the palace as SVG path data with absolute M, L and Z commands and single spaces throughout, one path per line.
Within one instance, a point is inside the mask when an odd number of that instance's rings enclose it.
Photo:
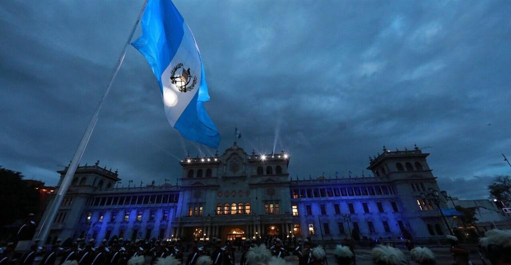
M 0 225 L 37 214 L 39 191 L 27 187 L 20 172 L 0 167 Z

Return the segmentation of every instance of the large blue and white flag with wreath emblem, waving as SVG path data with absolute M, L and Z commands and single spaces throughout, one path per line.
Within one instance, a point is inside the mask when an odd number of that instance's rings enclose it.
M 220 134 L 204 109 L 210 95 L 199 48 L 171 0 L 149 0 L 142 36 L 131 45 L 156 76 L 170 125 L 184 138 L 218 147 Z

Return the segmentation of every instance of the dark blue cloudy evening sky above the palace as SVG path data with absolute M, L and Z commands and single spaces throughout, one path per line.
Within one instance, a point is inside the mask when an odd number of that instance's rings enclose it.
M 0 5 L 0 165 L 56 183 L 142 4 Z M 416 143 L 461 198 L 484 198 L 492 176 L 511 173 L 501 155 L 511 158 L 511 2 L 175 5 L 201 50 L 220 152 L 238 127 L 247 151 L 287 150 L 294 177 L 333 177 L 360 175 L 383 145 Z M 215 152 L 170 127 L 129 47 L 82 165 L 99 159 L 125 184 L 175 183 L 187 150 Z

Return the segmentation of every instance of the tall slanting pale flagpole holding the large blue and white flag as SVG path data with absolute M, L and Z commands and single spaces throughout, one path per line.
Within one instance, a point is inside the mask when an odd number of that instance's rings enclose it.
M 108 82 L 108 85 L 106 86 L 106 88 L 103 92 L 103 96 L 101 97 L 101 99 L 98 103 L 98 107 L 96 108 L 96 111 L 92 115 L 92 118 L 90 118 L 87 129 L 85 129 L 85 133 L 82 136 L 82 140 L 80 141 L 78 148 L 76 149 L 76 152 L 75 152 L 75 155 L 73 156 L 73 160 L 71 161 L 71 164 L 67 167 L 67 171 L 65 173 L 64 178 L 62 179 L 62 183 L 60 184 L 59 189 L 57 190 L 55 199 L 53 200 L 53 203 L 52 203 L 50 209 L 48 210 L 47 214 L 45 215 L 46 217 L 44 218 L 44 220 L 41 224 L 41 229 L 39 230 L 39 233 L 34 237 L 35 239 L 40 240 L 40 242 L 39 242 L 40 246 L 42 246 L 46 242 L 48 234 L 50 233 L 50 228 L 53 223 L 52 220 L 54 220 L 55 216 L 57 215 L 60 204 L 62 203 L 62 200 L 64 199 L 67 189 L 69 188 L 69 184 L 71 184 L 71 180 L 73 179 L 73 176 L 75 175 L 78 164 L 80 163 L 83 153 L 85 152 L 85 148 L 87 147 L 90 137 L 92 136 L 92 131 L 94 131 L 94 128 L 96 127 L 96 123 L 98 122 L 98 118 L 101 113 L 101 109 L 103 108 L 103 104 L 105 103 L 106 96 L 108 95 L 108 92 L 110 91 L 113 81 L 115 80 L 115 77 L 119 73 L 119 69 L 121 68 L 121 65 L 124 62 L 124 58 L 126 57 L 126 50 L 128 48 L 128 45 L 130 44 L 131 38 L 133 38 L 133 35 L 135 34 L 135 30 L 138 25 L 138 22 L 140 22 L 142 15 L 144 14 L 144 10 L 146 9 L 147 1 L 148 0 L 144 1 L 142 10 L 140 11 L 140 14 L 138 14 L 138 18 L 136 19 L 136 22 L 133 25 L 133 29 L 131 29 L 131 33 L 128 37 L 128 40 L 124 44 L 124 48 L 123 48 L 123 51 L 121 52 L 121 56 L 119 57 L 119 60 L 117 60 L 117 65 L 115 65 L 115 68 L 113 69 L 113 72 L 110 76 L 110 82 Z

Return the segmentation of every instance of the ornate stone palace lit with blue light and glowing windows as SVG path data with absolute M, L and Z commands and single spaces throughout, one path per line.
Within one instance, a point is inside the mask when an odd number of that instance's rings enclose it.
M 370 159 L 373 176 L 290 180 L 284 151 L 247 154 L 235 142 L 220 156 L 185 158 L 179 186 L 130 188 L 114 188 L 121 180 L 117 171 L 85 165 L 76 171 L 50 238 L 436 237 L 448 233 L 438 210 L 446 205 L 431 197 L 430 189 L 439 189 L 428 155 L 419 148 L 384 148 Z M 65 170 L 59 173 L 62 180 Z

